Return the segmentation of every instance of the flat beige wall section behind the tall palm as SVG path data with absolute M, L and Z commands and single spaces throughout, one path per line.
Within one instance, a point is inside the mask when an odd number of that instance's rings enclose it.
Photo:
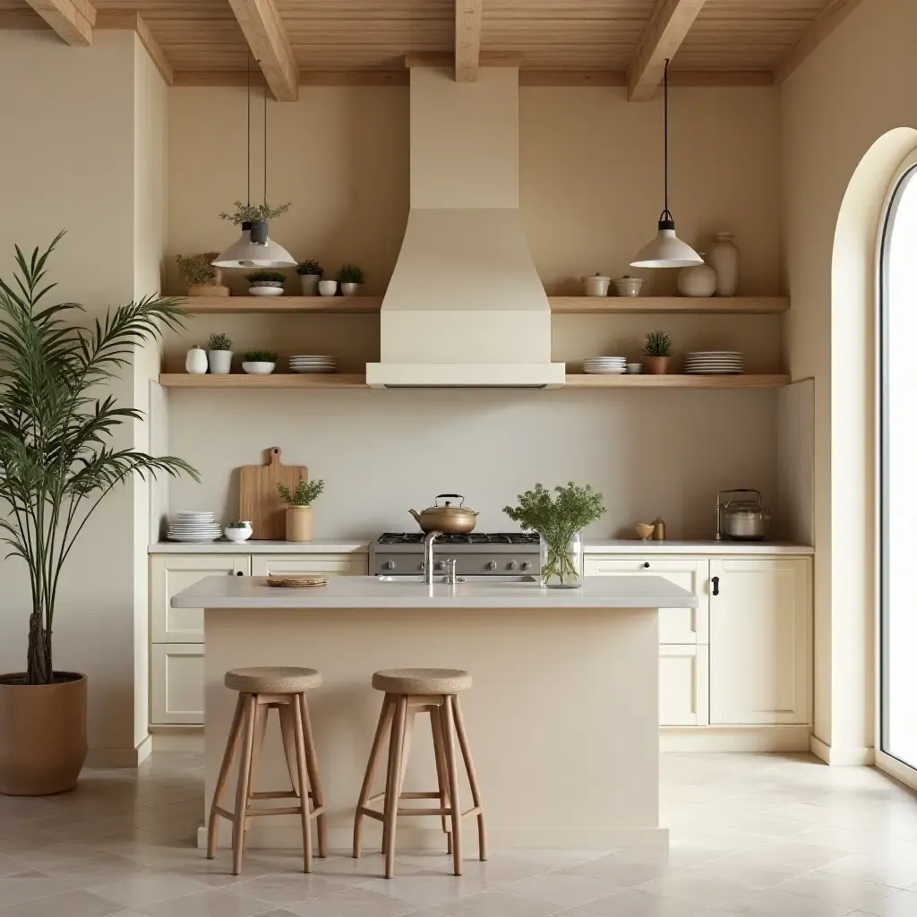
M 15 86 L 0 94 L 0 120 L 15 126 L 0 145 L 0 199 L 12 215 L 0 226 L 0 276 L 11 276 L 15 243 L 43 247 L 66 227 L 51 262 L 50 279 L 60 283 L 52 295 L 83 303 L 89 318 L 134 297 L 138 253 L 147 260 L 155 248 L 135 233 L 138 222 L 149 231 L 139 215 L 138 184 L 146 172 L 135 173 L 135 149 L 139 141 L 146 155 L 153 142 L 135 120 L 145 104 L 135 74 L 145 52 L 138 49 L 127 31 L 98 33 L 92 50 L 68 48 L 50 31 L 0 31 L 0 79 Z M 154 274 L 148 263 L 140 285 Z M 134 382 L 127 368 L 113 389 L 121 403 L 134 403 Z M 115 445 L 132 441 L 127 425 Z M 134 691 L 137 514 L 129 486 L 102 504 L 68 561 L 54 626 L 56 668 L 89 675 L 96 759 L 122 764 L 133 756 L 140 715 Z M 17 560 L 0 560 L 0 570 L 0 667 L 21 670 L 28 580 Z

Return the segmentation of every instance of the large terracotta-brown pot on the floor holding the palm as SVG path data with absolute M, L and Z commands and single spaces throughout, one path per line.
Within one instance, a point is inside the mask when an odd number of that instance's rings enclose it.
M 0 793 L 72 790 L 86 760 L 86 676 L 55 672 L 51 685 L 0 675 Z

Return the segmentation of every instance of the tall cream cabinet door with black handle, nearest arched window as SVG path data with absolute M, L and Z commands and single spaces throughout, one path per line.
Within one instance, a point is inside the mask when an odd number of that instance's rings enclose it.
M 809 560 L 712 560 L 710 574 L 711 723 L 811 722 Z

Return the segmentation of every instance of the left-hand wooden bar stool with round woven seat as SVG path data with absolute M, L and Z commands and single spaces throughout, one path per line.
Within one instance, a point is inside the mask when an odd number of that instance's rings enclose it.
M 318 823 L 318 856 L 327 856 L 325 802 L 318 777 L 318 760 L 309 722 L 305 692 L 317 688 L 322 676 L 314 668 L 233 668 L 226 672 L 226 688 L 238 691 L 236 713 L 226 740 L 226 752 L 216 778 L 214 799 L 207 823 L 207 858 L 216 855 L 216 816 L 232 822 L 232 872 L 242 869 L 245 832 L 250 818 L 261 815 L 300 815 L 303 819 L 303 871 L 312 872 L 312 820 Z M 281 721 L 283 752 L 293 790 L 254 792 L 268 713 L 276 710 Z M 220 807 L 233 757 L 241 746 L 234 812 Z M 294 799 L 299 805 L 253 808 L 253 800 Z M 311 804 L 310 804 L 311 800 Z

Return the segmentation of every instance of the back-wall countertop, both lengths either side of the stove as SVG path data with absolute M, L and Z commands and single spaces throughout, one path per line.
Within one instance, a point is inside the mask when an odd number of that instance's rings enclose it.
M 326 538 L 323 541 L 219 541 L 186 544 L 160 541 L 150 554 L 367 554 L 370 538 Z M 587 538 L 587 554 L 630 555 L 808 555 L 811 545 L 785 541 L 637 541 L 635 538 Z

